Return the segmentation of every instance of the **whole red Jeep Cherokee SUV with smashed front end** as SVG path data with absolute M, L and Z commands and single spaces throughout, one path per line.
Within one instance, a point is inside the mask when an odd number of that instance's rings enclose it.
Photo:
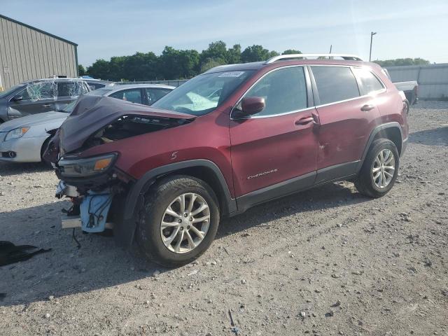
M 83 97 L 45 155 L 73 202 L 65 227 L 113 227 L 121 244 L 135 237 L 149 258 L 182 265 L 221 216 L 337 180 L 388 193 L 405 106 L 377 64 L 281 55 L 217 66 L 151 107 Z

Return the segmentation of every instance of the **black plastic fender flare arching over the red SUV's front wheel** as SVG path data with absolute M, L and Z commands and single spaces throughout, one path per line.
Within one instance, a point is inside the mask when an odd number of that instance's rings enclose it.
M 228 184 L 224 179 L 221 169 L 209 160 L 187 160 L 181 162 L 175 162 L 169 165 L 160 166 L 155 169 L 151 169 L 146 172 L 144 176 L 139 179 L 134 186 L 127 193 L 125 200 L 125 207 L 123 212 L 123 220 L 114 223 L 115 237 L 118 244 L 127 247 L 132 244 L 134 239 L 134 232 L 137 228 L 137 221 L 135 221 L 134 215 L 136 214 L 136 209 L 143 202 L 144 194 L 153 185 L 155 180 L 162 175 L 166 175 L 172 172 L 179 171 L 181 169 L 191 168 L 191 167 L 207 167 L 214 172 L 219 185 L 221 186 L 221 194 L 223 197 L 223 214 L 231 214 L 237 211 L 237 202 L 232 199 L 230 195 L 230 190 Z

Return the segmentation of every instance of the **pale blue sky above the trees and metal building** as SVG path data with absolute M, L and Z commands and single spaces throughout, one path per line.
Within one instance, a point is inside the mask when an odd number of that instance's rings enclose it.
M 0 0 L 0 13 L 78 43 L 78 62 L 204 50 L 222 40 L 282 52 L 448 62 L 448 0 Z

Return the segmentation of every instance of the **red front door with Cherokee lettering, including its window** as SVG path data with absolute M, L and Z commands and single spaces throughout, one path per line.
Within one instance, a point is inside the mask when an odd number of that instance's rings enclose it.
M 267 73 L 244 95 L 265 98 L 265 109 L 246 119 L 230 120 L 235 194 L 255 195 L 248 205 L 314 182 L 316 118 L 308 103 L 305 71 L 293 66 Z

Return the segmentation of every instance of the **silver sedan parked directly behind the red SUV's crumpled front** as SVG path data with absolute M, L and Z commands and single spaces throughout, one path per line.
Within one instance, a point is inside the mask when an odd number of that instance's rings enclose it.
M 89 94 L 123 99 L 130 102 L 151 105 L 173 86 L 158 84 L 108 85 Z M 64 123 L 76 104 L 72 102 L 62 111 L 50 111 L 17 118 L 0 125 L 0 161 L 41 162 L 45 148 L 50 141 L 50 130 Z

